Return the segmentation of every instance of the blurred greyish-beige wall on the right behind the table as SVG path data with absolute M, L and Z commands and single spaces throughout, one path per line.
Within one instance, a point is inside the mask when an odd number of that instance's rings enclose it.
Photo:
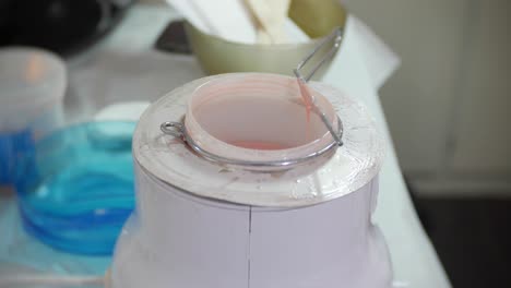
M 402 58 L 381 99 L 420 196 L 511 196 L 511 1 L 343 0 Z

